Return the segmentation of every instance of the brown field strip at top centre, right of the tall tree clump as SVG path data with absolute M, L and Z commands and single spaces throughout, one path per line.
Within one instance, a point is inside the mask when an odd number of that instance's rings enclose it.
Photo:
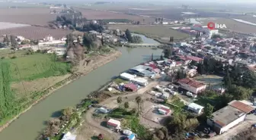
M 76 8 L 78 11 L 81 11 L 83 16 L 89 20 L 104 20 L 104 19 L 127 19 L 127 20 L 135 20 L 143 22 L 153 22 L 155 21 L 154 18 L 151 17 L 139 17 L 136 15 L 129 15 L 129 14 L 119 14 L 110 11 L 96 11 L 90 10 L 85 8 Z

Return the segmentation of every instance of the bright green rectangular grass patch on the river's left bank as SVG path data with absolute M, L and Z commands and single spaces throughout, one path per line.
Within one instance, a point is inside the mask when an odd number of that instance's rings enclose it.
M 56 62 L 53 55 L 32 54 L 23 58 L 10 59 L 11 80 L 33 80 L 68 73 L 69 65 Z

